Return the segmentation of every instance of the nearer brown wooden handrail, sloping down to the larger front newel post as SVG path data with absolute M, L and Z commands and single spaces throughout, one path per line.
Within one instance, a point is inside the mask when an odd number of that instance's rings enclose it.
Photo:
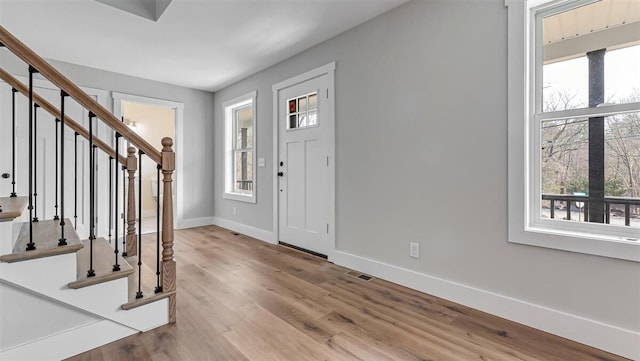
M 25 63 L 34 67 L 42 76 L 47 78 L 55 86 L 64 90 L 70 97 L 75 99 L 85 109 L 93 112 L 99 119 L 101 119 L 106 125 L 116 130 L 118 133 L 129 140 L 138 149 L 141 149 L 151 160 L 157 164 L 161 164 L 162 156 L 160 152 L 156 150 L 146 140 L 129 129 L 126 125 L 122 124 L 118 118 L 111 114 L 105 107 L 96 102 L 91 96 L 82 91 L 80 87 L 74 84 L 67 77 L 62 75 L 53 66 L 47 63 L 43 58 L 36 54 L 33 50 L 29 49 L 24 43 L 18 40 L 13 34 L 11 34 L 3 26 L 0 26 L 0 43 L 2 43 L 7 49 L 14 53 L 18 58 L 22 59 Z M 17 89 L 17 88 L 16 88 Z

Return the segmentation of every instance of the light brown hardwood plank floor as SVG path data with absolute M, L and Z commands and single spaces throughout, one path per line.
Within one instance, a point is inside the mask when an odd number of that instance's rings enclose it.
M 219 227 L 175 250 L 177 323 L 72 360 L 625 360 Z

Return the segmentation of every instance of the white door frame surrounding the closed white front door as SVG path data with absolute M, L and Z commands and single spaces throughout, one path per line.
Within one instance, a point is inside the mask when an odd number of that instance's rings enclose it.
M 323 120 L 327 125 L 327 152 L 329 157 L 329 167 L 328 167 L 328 182 L 329 182 L 329 201 L 327 203 L 327 219 L 329 221 L 329 249 L 327 252 L 327 257 L 329 261 L 333 260 L 333 256 L 336 250 L 336 127 L 335 127 L 335 69 L 336 63 L 331 62 L 329 64 L 323 65 L 319 68 L 310 70 L 306 73 L 294 76 L 292 78 L 283 80 L 279 83 L 276 83 L 272 86 L 273 90 L 273 243 L 277 244 L 280 240 L 280 226 L 279 226 L 279 217 L 280 217 L 280 205 L 278 196 L 278 160 L 279 157 L 279 137 L 278 137 L 278 127 L 279 127 L 279 116 L 278 116 L 278 96 L 281 90 L 291 87 L 296 84 L 303 83 L 307 80 L 311 80 L 313 78 L 317 78 L 323 75 L 327 75 L 327 88 L 329 91 L 327 100 L 327 118 Z

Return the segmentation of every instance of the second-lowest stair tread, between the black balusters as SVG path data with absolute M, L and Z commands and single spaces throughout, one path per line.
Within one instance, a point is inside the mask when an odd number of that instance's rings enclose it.
M 112 281 L 118 278 L 123 278 L 133 273 L 133 267 L 127 262 L 120 254 L 118 254 L 118 264 L 120 265 L 119 271 L 113 271 L 113 264 L 115 261 L 114 250 L 109 245 L 109 242 L 102 238 L 96 238 L 93 241 L 93 270 L 95 276 L 87 277 L 87 271 L 89 270 L 89 240 L 83 241 L 84 248 L 78 252 L 77 256 L 77 274 L 76 281 L 69 283 L 69 288 L 82 288 L 99 283 Z

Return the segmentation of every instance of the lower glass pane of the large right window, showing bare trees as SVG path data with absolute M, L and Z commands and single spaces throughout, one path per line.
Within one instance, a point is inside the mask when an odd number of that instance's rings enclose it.
M 578 222 L 591 218 L 595 221 L 588 212 L 589 122 L 597 124 L 598 119 L 602 118 L 542 123 L 543 218 Z M 604 143 L 594 145 L 604 150 L 604 164 L 595 164 L 594 169 L 604 177 L 604 219 L 601 219 L 604 223 L 640 227 L 640 112 L 605 117 L 604 123 L 600 124 L 604 124 Z M 598 141 L 594 138 L 591 142 Z M 562 198 L 561 195 L 573 198 Z

